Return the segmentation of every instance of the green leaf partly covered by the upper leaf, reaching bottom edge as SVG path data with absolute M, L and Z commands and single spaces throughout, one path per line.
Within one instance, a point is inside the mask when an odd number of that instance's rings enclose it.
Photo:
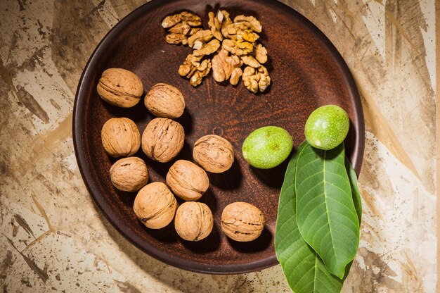
M 332 275 L 321 258 L 305 242 L 296 219 L 295 168 L 299 146 L 290 159 L 281 187 L 275 232 L 275 251 L 287 283 L 293 292 L 334 293 L 342 289 L 342 280 Z

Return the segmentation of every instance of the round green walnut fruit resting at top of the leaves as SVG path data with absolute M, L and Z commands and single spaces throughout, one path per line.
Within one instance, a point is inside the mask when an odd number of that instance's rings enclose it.
M 349 126 L 349 116 L 343 108 L 325 105 L 310 114 L 304 132 L 311 146 L 328 150 L 344 142 Z

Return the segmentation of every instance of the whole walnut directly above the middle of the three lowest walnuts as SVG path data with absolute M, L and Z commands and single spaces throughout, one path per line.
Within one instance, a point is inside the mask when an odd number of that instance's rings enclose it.
M 179 160 L 169 168 L 167 185 L 177 197 L 196 201 L 207 191 L 209 179 L 205 170 L 195 163 Z

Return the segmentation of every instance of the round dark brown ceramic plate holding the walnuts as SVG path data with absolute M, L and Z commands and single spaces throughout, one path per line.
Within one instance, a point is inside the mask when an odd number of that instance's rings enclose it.
M 177 73 L 190 49 L 164 41 L 160 23 L 164 16 L 188 10 L 197 13 L 207 27 L 207 13 L 226 8 L 235 17 L 254 15 L 263 25 L 261 42 L 268 50 L 266 64 L 273 84 L 264 94 L 254 95 L 240 82 L 236 87 L 219 84 L 212 75 L 197 88 Z M 200 242 L 179 239 L 174 226 L 149 230 L 132 210 L 136 194 L 120 192 L 110 182 L 109 169 L 115 159 L 101 146 L 101 127 L 112 117 L 129 117 L 141 133 L 153 118 L 143 101 L 134 108 L 106 104 L 96 93 L 96 85 L 106 68 L 134 71 L 145 90 L 157 82 L 181 89 L 186 111 L 178 121 L 186 131 L 186 144 L 178 158 L 192 161 L 194 142 L 203 135 L 217 134 L 228 139 L 235 150 L 235 163 L 226 173 L 209 174 L 211 185 L 201 201 L 214 213 L 212 234 Z M 324 104 L 342 106 L 351 120 L 346 139 L 347 154 L 358 172 L 364 148 L 364 121 L 361 101 L 347 65 L 330 41 L 312 23 L 292 8 L 277 1 L 154 0 L 129 14 L 110 30 L 93 52 L 79 81 L 74 106 L 73 135 L 79 170 L 96 205 L 119 232 L 150 256 L 172 266 L 201 273 L 245 273 L 275 265 L 273 247 L 278 195 L 287 161 L 272 170 L 251 168 L 241 154 L 242 142 L 252 130 L 278 125 L 293 136 L 295 147 L 304 140 L 304 123 L 311 111 Z M 164 182 L 170 163 L 146 158 L 150 182 Z M 224 206 L 247 201 L 266 217 L 261 237 L 240 243 L 221 232 Z

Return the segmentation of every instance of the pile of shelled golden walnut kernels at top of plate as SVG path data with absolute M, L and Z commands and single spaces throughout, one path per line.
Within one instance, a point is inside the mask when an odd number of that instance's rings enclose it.
M 162 20 L 162 27 L 168 30 L 167 43 L 194 49 L 179 67 L 179 75 L 188 77 L 190 85 L 197 87 L 212 69 L 216 82 L 229 80 L 231 85 L 237 85 L 242 77 L 250 92 L 264 92 L 271 77 L 263 66 L 267 50 L 257 43 L 261 23 L 254 16 L 245 15 L 231 20 L 225 10 L 209 12 L 208 16 L 209 30 L 203 30 L 198 15 L 186 11 Z

